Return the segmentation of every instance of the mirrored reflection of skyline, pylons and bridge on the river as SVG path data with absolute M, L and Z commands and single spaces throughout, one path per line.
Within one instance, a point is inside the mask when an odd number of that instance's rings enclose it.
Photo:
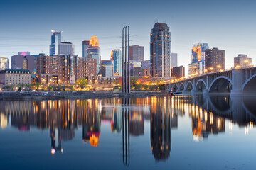
M 131 144 L 144 135 L 145 121 L 150 123 L 149 149 L 154 159 L 166 160 L 171 154 L 171 131 L 178 128 L 178 117 L 188 114 L 192 122 L 191 137 L 202 141 L 210 134 L 224 133 L 225 120 L 240 127 L 253 127 L 255 101 L 255 98 L 239 96 L 3 101 L 0 123 L 2 129 L 11 125 L 24 132 L 31 128 L 49 130 L 52 154 L 63 152 L 62 142 L 73 140 L 79 127 L 82 128 L 81 142 L 97 147 L 101 125 L 105 123 L 113 133 L 122 134 L 119 140 L 122 140 L 123 164 L 129 166 L 130 157 L 136 154 L 131 154 Z M 232 128 L 232 124 L 228 128 Z

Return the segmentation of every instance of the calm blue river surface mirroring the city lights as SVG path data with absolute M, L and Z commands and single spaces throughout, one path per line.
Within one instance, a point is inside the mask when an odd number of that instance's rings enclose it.
M 247 168 L 255 118 L 255 98 L 230 96 L 2 101 L 0 162 L 9 169 L 26 167 L 26 157 L 38 169 L 67 169 L 68 160 L 91 169 Z M 233 149 L 241 154 L 235 159 Z

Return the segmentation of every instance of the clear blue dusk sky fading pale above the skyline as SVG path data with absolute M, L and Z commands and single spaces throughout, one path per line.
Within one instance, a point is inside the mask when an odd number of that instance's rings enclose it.
M 149 59 L 149 36 L 158 21 L 170 27 L 171 52 L 178 53 L 186 75 L 191 47 L 198 42 L 225 50 L 226 68 L 233 67 L 238 54 L 256 64 L 255 7 L 255 0 L 1 0 L 0 56 L 11 59 L 19 51 L 49 55 L 50 30 L 62 30 L 63 41 L 75 45 L 75 55 L 82 57 L 82 40 L 97 35 L 102 59 L 109 59 L 112 49 L 122 47 L 122 27 L 129 25 L 131 45 L 143 45 Z

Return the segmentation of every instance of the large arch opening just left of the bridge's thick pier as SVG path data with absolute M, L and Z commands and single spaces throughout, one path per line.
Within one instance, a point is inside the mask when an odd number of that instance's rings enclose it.
M 225 76 L 217 77 L 209 86 L 209 92 L 230 92 L 232 89 L 233 81 Z

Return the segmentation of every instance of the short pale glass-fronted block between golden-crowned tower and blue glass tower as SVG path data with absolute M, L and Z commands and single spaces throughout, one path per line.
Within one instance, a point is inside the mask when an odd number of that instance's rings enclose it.
M 114 60 L 101 60 L 100 74 L 102 77 L 112 77 L 114 75 Z

